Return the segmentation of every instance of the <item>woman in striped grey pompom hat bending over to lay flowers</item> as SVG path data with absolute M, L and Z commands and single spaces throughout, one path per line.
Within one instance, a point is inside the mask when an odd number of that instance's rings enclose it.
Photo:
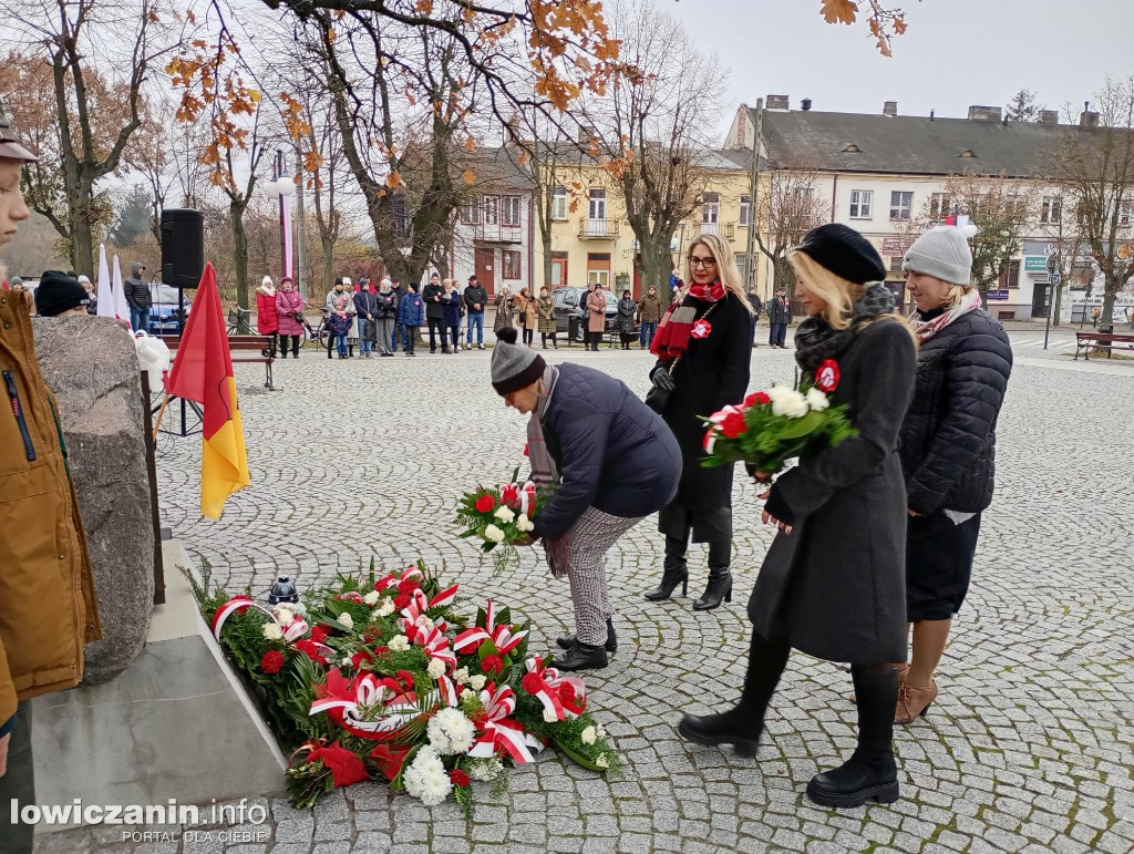
M 617 641 L 603 556 L 677 489 L 682 451 L 669 428 L 624 383 L 569 362 L 548 365 L 497 333 L 492 387 L 527 422 L 532 481 L 557 489 L 531 521 L 548 566 L 567 576 L 575 635 L 562 637 L 559 670 L 602 668 Z

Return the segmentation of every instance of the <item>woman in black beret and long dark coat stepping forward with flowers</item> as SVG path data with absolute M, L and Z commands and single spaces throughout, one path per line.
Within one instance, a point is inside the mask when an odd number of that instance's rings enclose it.
M 906 490 L 897 439 L 913 392 L 914 339 L 878 281 L 886 276 L 881 257 L 857 231 L 821 226 L 788 260 L 809 315 L 796 333 L 796 363 L 832 406 L 847 406 L 858 433 L 804 454 L 761 494 L 762 518 L 779 533 L 748 601 L 753 632 L 741 702 L 720 715 L 686 715 L 678 732 L 754 755 L 792 648 L 848 662 L 858 746 L 840 768 L 812 778 L 807 796 L 824 806 L 890 803 L 898 797 L 891 744 L 898 677 L 890 662 L 906 650 Z

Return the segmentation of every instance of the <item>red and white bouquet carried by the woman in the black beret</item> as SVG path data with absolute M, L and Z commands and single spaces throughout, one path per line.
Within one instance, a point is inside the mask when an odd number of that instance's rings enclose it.
M 705 457 L 701 464 L 746 463 L 754 471 L 772 475 L 793 457 L 833 447 L 855 436 L 847 407 L 831 406 L 828 398 L 838 382 L 838 364 L 827 360 L 814 379 L 805 378 L 798 388 L 772 386 L 703 417 Z

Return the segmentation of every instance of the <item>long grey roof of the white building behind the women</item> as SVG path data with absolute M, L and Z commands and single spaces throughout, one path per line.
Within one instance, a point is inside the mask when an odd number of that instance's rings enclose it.
M 753 116 L 753 119 L 755 117 Z M 770 110 L 763 117 L 768 159 L 787 168 L 899 175 L 1005 172 L 1036 177 L 1066 125 L 974 121 L 922 116 Z M 844 152 L 857 145 L 857 153 Z M 962 157 L 965 150 L 972 158 Z

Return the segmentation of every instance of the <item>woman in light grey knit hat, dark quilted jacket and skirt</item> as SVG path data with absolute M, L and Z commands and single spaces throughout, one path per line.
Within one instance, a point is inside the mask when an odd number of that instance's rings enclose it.
M 937 697 L 933 673 L 968 591 L 981 513 L 992 502 L 996 424 L 1012 374 L 1012 345 L 981 311 L 973 256 L 960 230 L 932 228 L 902 269 L 917 304 L 917 382 L 902 425 L 909 510 L 906 619 L 912 662 L 898 666 L 895 721 L 909 724 Z

